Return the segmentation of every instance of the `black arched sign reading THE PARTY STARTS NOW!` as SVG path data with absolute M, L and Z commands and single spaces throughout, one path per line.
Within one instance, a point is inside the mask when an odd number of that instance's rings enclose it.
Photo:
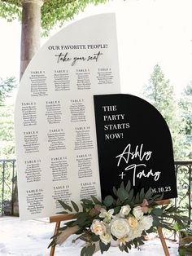
M 135 192 L 152 188 L 177 197 L 172 138 L 164 117 L 133 95 L 95 95 L 102 196 L 131 181 Z

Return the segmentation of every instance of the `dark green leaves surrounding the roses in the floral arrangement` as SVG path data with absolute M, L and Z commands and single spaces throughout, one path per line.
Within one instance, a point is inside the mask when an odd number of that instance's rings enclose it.
M 140 192 L 134 194 L 133 188 L 131 188 L 130 181 L 124 185 L 124 183 L 120 184 L 120 188 L 113 188 L 114 195 L 106 196 L 103 201 L 99 201 L 95 196 L 91 196 L 91 200 L 83 199 L 81 200 L 81 208 L 76 205 L 74 201 L 71 201 L 71 204 L 68 205 L 63 201 L 59 201 L 60 205 L 62 205 L 64 211 L 59 212 L 59 214 L 74 214 L 74 219 L 68 223 L 65 223 L 64 227 L 59 229 L 59 233 L 53 236 L 53 241 L 50 245 L 55 243 L 56 237 L 59 236 L 60 232 L 64 231 L 68 227 L 78 226 L 79 230 L 76 232 L 78 236 L 76 239 L 81 239 L 86 241 L 86 246 L 81 250 L 81 256 L 91 256 L 95 252 L 95 245 L 98 243 L 99 249 L 101 253 L 107 251 L 111 243 L 104 244 L 103 241 L 100 240 L 100 237 L 95 235 L 90 230 L 90 226 L 93 223 L 94 219 L 100 219 L 99 217 L 100 210 L 103 208 L 105 210 L 114 210 L 114 215 L 119 214 L 121 207 L 123 205 L 129 205 L 131 209 L 133 209 L 137 205 L 141 205 L 144 199 L 148 202 L 148 214 L 151 214 L 154 222 L 153 226 L 150 230 L 146 232 L 153 232 L 154 227 L 166 227 L 169 230 L 175 229 L 173 221 L 177 222 L 177 225 L 180 227 L 185 227 L 185 223 L 189 221 L 188 218 L 180 216 L 181 210 L 179 210 L 175 206 L 158 206 L 156 201 L 162 200 L 164 195 L 156 195 L 152 192 L 152 189 L 149 188 L 146 192 L 144 188 Z M 170 223 L 170 220 L 172 223 Z M 143 234 L 146 234 L 144 232 Z M 116 241 L 116 237 L 112 236 L 113 239 Z M 129 252 L 129 249 L 132 248 L 134 245 L 135 247 L 142 245 L 142 236 L 133 239 L 133 241 L 125 242 L 122 245 L 119 245 L 119 249 L 121 251 Z

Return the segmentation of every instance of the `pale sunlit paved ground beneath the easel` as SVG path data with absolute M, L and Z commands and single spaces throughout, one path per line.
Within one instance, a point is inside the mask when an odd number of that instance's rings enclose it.
M 0 217 L 0 255 L 11 256 L 48 256 L 50 237 L 53 235 L 55 223 L 48 219 L 20 221 L 17 217 Z M 72 244 L 72 238 L 62 246 L 57 246 L 55 256 L 78 256 L 82 241 Z M 170 255 L 177 256 L 178 244 L 167 241 Z M 95 256 L 102 255 L 97 252 Z M 129 254 L 121 253 L 116 247 L 111 247 L 103 256 L 164 256 L 164 250 L 158 238 L 146 241 L 141 250 L 132 249 Z

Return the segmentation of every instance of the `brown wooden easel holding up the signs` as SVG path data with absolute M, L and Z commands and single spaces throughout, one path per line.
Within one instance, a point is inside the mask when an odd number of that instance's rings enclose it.
M 157 205 L 168 205 L 169 203 L 170 203 L 169 199 L 156 202 Z M 57 232 L 59 231 L 60 223 L 62 221 L 72 219 L 73 217 L 74 217 L 74 214 L 51 216 L 50 217 L 50 223 L 55 223 L 54 235 L 56 235 Z M 157 227 L 157 232 L 159 234 L 161 245 L 163 246 L 163 249 L 164 249 L 164 255 L 165 256 L 170 256 L 170 254 L 168 252 L 168 246 L 166 244 L 166 241 L 164 239 L 164 234 L 162 232 L 162 227 Z M 50 256 L 54 256 L 55 255 L 55 246 L 56 245 L 52 245 L 51 246 L 51 248 L 50 248 Z

